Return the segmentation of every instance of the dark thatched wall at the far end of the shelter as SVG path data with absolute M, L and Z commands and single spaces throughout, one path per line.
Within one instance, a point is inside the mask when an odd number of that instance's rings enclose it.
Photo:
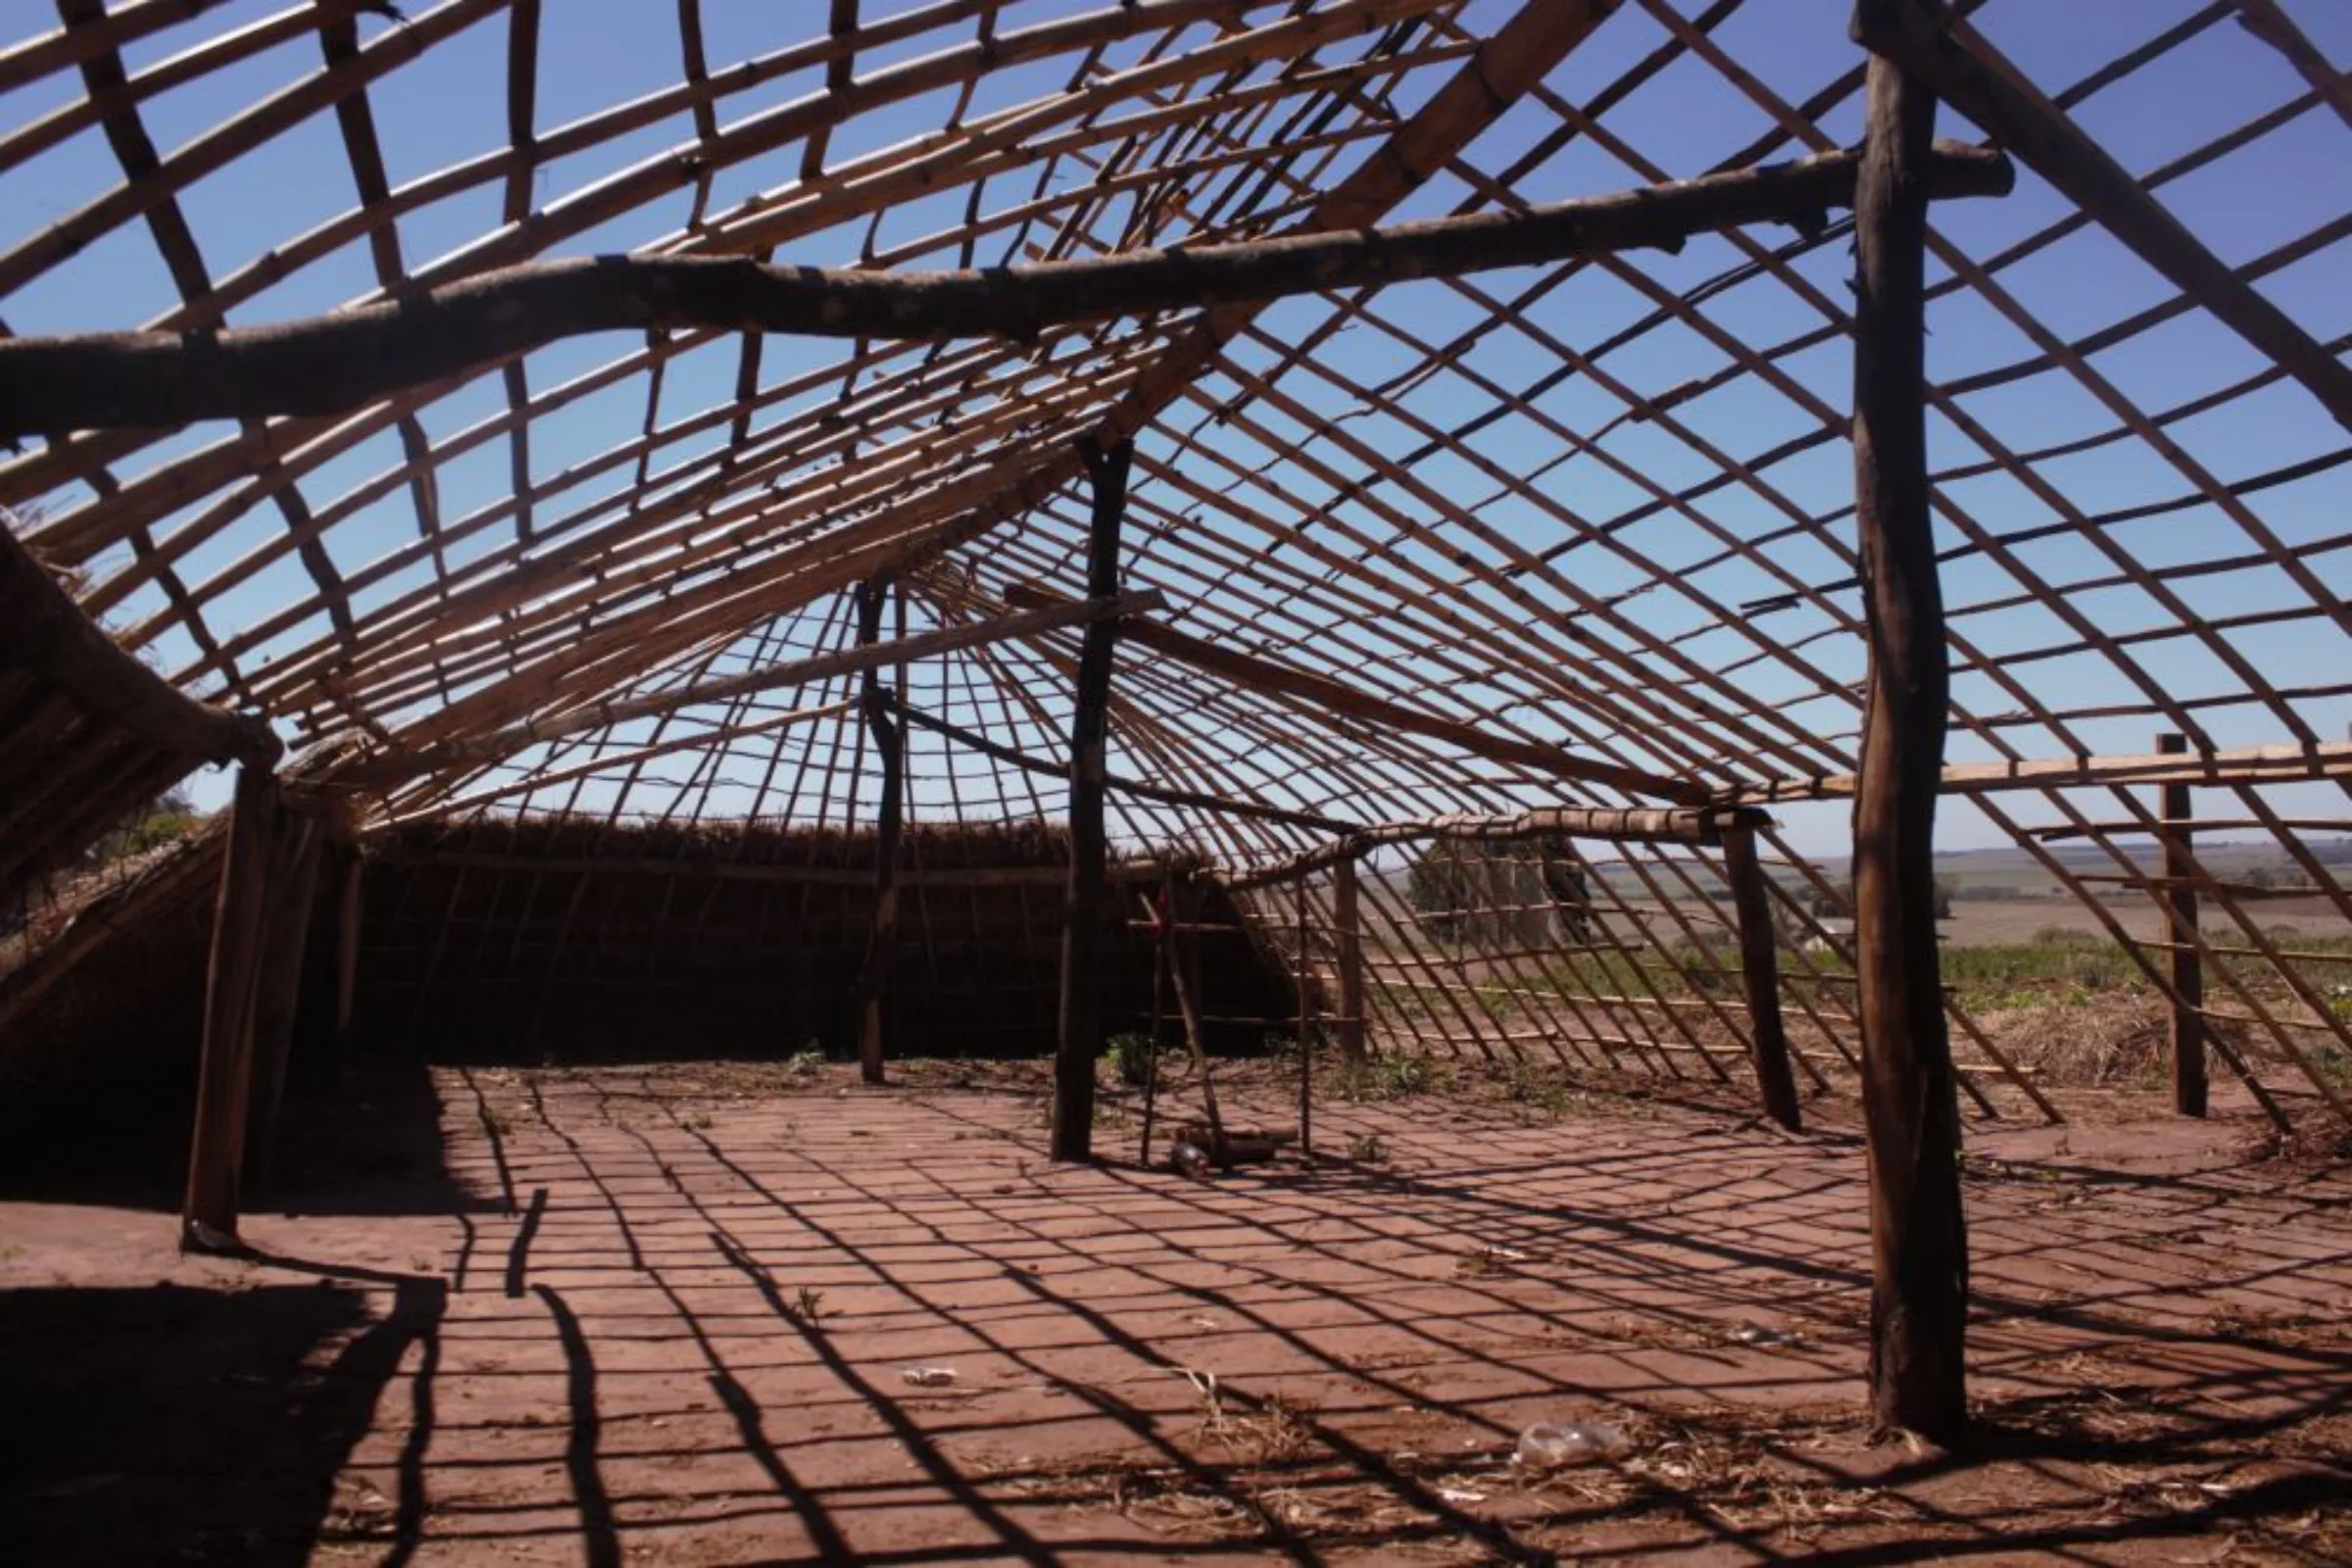
M 854 1053 L 873 835 L 492 820 L 395 830 L 367 853 L 367 1039 L 468 1058 Z M 1065 863 L 1058 825 L 906 830 L 894 1056 L 1051 1051 Z M 1150 1011 L 1150 947 L 1131 929 L 1150 865 L 1115 882 L 1096 976 L 1105 1032 Z M 1230 898 L 1209 898 L 1207 919 L 1240 922 Z M 1296 1011 L 1256 943 L 1207 940 L 1202 964 L 1209 1016 Z M 1218 1023 L 1211 1046 L 1251 1048 L 1268 1027 Z

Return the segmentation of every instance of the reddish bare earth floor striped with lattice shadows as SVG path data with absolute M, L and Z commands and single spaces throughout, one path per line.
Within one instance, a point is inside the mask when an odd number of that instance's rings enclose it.
M 0 1206 L 7 1561 L 2352 1559 L 2352 1178 L 2241 1121 L 1971 1133 L 1947 1458 L 1858 1415 L 1851 1131 L 1414 1098 L 1190 1182 L 835 1072 L 442 1070 L 449 1180 L 259 1262 Z

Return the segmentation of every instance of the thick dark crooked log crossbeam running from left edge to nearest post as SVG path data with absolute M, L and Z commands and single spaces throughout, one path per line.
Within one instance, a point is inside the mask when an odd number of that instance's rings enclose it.
M 1524 212 L 948 273 L 572 256 L 268 327 L 9 339 L 0 343 L 0 437 L 341 414 L 590 331 L 1025 341 L 1162 310 L 1679 249 L 1691 235 L 1748 223 L 1818 226 L 1853 202 L 1856 162 L 1856 153 L 1828 153 Z M 1966 146 L 1938 148 L 1922 176 L 1938 197 L 2002 195 L 2013 179 L 2002 155 Z

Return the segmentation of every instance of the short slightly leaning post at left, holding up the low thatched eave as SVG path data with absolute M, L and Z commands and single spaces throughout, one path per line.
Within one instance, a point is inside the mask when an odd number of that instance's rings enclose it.
M 254 1070 L 254 999 L 280 813 L 278 776 L 252 764 L 238 769 L 228 846 L 221 853 L 221 893 L 212 912 L 195 1133 L 188 1140 L 188 1194 L 179 1215 L 179 1244 L 191 1253 L 238 1246 L 238 1178 L 245 1166 L 245 1105 Z

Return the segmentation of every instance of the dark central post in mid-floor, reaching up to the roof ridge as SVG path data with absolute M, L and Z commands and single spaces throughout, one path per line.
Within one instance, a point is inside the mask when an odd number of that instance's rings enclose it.
M 1084 447 L 1094 482 L 1087 531 L 1087 597 L 1120 592 L 1120 517 L 1134 444 Z M 1054 1058 L 1054 1159 L 1094 1159 L 1094 1058 L 1103 1051 L 1103 745 L 1110 729 L 1110 665 L 1120 623 L 1094 621 L 1077 656 L 1070 715 L 1070 896 L 1061 922 L 1061 1030 Z

